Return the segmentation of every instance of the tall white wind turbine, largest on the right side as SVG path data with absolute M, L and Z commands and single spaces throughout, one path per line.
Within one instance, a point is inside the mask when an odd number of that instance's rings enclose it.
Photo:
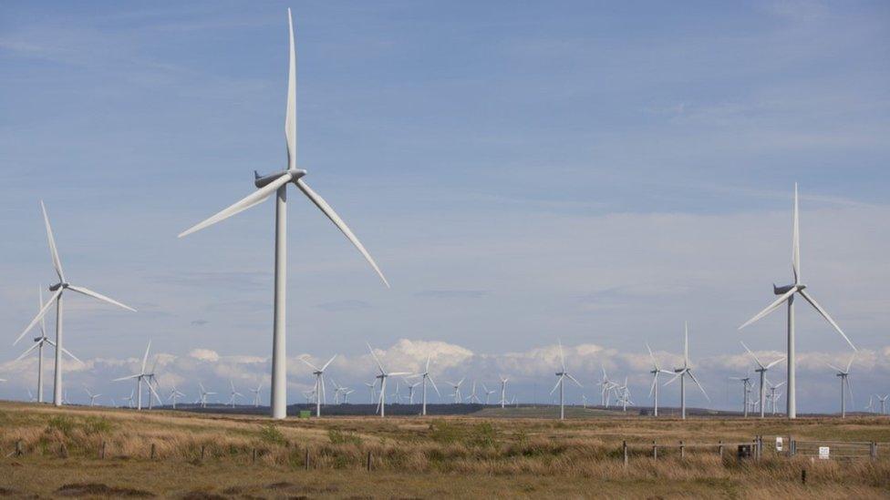
M 853 342 L 850 342 L 850 339 L 847 338 L 846 334 L 843 333 L 841 327 L 837 325 L 836 322 L 832 319 L 831 316 L 828 315 L 828 312 L 823 309 L 815 299 L 812 298 L 812 295 L 805 289 L 807 288 L 801 281 L 801 234 L 800 234 L 800 219 L 798 216 L 798 203 L 797 203 L 797 183 L 794 183 L 794 221 L 793 221 L 793 229 L 792 229 L 792 271 L 794 273 L 794 282 L 791 285 L 786 285 L 783 287 L 777 287 L 776 285 L 772 285 L 772 292 L 775 295 L 779 295 L 780 297 L 773 301 L 769 306 L 766 307 L 763 311 L 758 312 L 753 318 L 746 321 L 739 327 L 739 330 L 745 328 L 750 325 L 754 321 L 760 320 L 762 317 L 779 309 L 779 306 L 783 302 L 788 303 L 788 353 L 786 354 L 786 358 L 788 359 L 788 397 L 785 398 L 785 403 L 788 407 L 788 418 L 797 418 L 797 393 L 796 393 L 796 370 L 797 364 L 795 362 L 795 348 L 794 348 L 794 297 L 797 294 L 800 294 L 801 297 L 805 301 L 810 302 L 813 309 L 819 312 L 825 321 L 828 321 L 833 326 L 834 330 L 841 334 L 843 340 L 845 340 L 850 347 L 853 348 L 854 352 L 856 350 L 856 346 L 853 345 Z

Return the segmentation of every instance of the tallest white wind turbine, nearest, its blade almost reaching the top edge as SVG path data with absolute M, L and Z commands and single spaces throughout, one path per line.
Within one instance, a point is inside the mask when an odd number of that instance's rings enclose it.
M 180 233 L 180 238 L 197 230 L 202 230 L 223 219 L 250 209 L 265 199 L 275 195 L 275 278 L 274 278 L 274 322 L 272 340 L 272 417 L 285 418 L 287 413 L 287 373 L 285 370 L 285 291 L 287 281 L 287 184 L 293 182 L 305 196 L 320 209 L 331 222 L 341 230 L 347 239 L 361 252 L 365 260 L 377 271 L 378 276 L 389 287 L 383 272 L 367 253 L 365 247 L 349 230 L 346 222 L 340 219 L 325 199 L 309 188 L 303 180 L 306 171 L 296 166 L 296 53 L 294 48 L 294 22 L 291 11 L 287 9 L 287 23 L 290 33 L 290 62 L 287 77 L 287 106 L 285 108 L 285 139 L 287 145 L 287 168 L 285 170 L 261 177 L 254 172 L 254 185 L 258 188 L 254 193 L 237 201 L 230 207 L 221 210 L 210 219 Z

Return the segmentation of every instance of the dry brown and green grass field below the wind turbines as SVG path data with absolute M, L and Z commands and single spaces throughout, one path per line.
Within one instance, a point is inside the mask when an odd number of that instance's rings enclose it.
M 272 422 L 231 414 L 0 403 L 0 495 L 890 497 L 887 445 L 877 460 L 830 461 L 776 456 L 768 447 L 760 462 L 738 461 L 734 447 L 721 460 L 716 448 L 694 446 L 750 442 L 756 434 L 768 443 L 777 434 L 887 443 L 886 418 L 681 422 L 591 411 L 579 415 L 588 418 L 560 423 L 529 418 L 523 408 L 478 415 Z M 674 447 L 659 450 L 653 460 L 653 440 Z M 627 466 L 623 441 L 630 444 Z M 683 458 L 680 441 L 688 445 Z M 17 442 L 21 456 L 13 454 Z M 103 443 L 106 455 L 100 459 Z

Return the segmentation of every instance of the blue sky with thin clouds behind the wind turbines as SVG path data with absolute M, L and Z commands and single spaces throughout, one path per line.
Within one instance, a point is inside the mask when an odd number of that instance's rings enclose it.
M 561 338 L 604 350 L 592 384 L 601 362 L 642 377 L 642 342 L 678 352 L 689 320 L 716 391 L 744 371 L 723 357 L 738 340 L 782 351 L 781 314 L 736 327 L 791 279 L 797 181 L 804 277 L 869 352 L 857 393 L 890 391 L 890 7 L 807 1 L 5 3 L 0 318 L 12 340 L 52 280 L 40 199 L 70 281 L 140 309 L 67 302 L 68 347 L 111 363 L 72 384 L 112 390 L 148 338 L 181 359 L 268 357 L 271 203 L 175 235 L 285 164 L 287 6 L 298 163 L 393 283 L 294 192 L 291 356 L 367 340 L 409 362 L 399 339 L 447 342 L 473 353 L 455 375 L 493 379 L 505 366 L 483 355 Z M 800 352 L 847 355 L 799 316 Z M 804 411 L 836 403 L 819 362 Z M 253 383 L 254 364 L 201 376 Z M 309 380 L 291 369 L 296 400 Z

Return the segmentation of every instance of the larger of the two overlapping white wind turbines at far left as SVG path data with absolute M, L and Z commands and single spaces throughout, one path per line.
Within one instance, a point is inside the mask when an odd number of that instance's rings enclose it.
M 44 206 L 43 201 L 40 202 L 40 208 L 43 209 L 43 220 L 44 224 L 47 226 L 47 240 L 49 241 L 49 253 L 53 258 L 53 268 L 56 270 L 56 274 L 58 276 L 58 282 L 49 287 L 49 291 L 52 291 L 53 294 L 49 297 L 49 301 L 40 308 L 40 311 L 37 312 L 37 315 L 33 320 L 25 328 L 25 331 L 22 332 L 16 342 L 13 342 L 13 345 L 16 345 L 18 341 L 22 340 L 22 337 L 26 335 L 27 332 L 30 332 L 32 328 L 37 324 L 38 321 L 43 320 L 43 317 L 49 311 L 50 306 L 53 305 L 53 302 L 56 303 L 56 372 L 55 372 L 55 380 L 53 383 L 53 404 L 56 406 L 62 405 L 62 352 L 65 352 L 65 348 L 62 345 L 62 312 L 64 311 L 62 308 L 62 296 L 66 290 L 77 291 L 80 294 L 87 295 L 88 297 L 92 297 L 94 299 L 98 299 L 99 301 L 106 301 L 109 304 L 114 304 L 118 307 L 122 307 L 129 311 L 136 312 L 135 309 L 129 307 L 128 305 L 124 305 L 119 301 L 115 301 L 98 293 L 96 291 L 91 291 L 88 288 L 80 287 L 72 285 L 68 283 L 65 279 L 65 272 L 62 271 L 62 261 L 58 258 L 58 250 L 56 249 L 56 240 L 53 238 L 53 230 L 49 226 L 49 217 L 47 216 L 47 208 Z M 42 301 L 42 298 L 41 298 Z

